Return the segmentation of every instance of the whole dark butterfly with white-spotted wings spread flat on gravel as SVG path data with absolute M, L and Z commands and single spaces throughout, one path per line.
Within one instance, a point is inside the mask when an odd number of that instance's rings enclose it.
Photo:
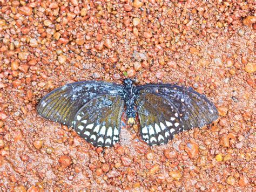
M 150 146 L 173 139 L 174 134 L 203 127 L 218 119 L 217 108 L 193 88 L 171 84 L 135 86 L 104 81 L 79 81 L 53 90 L 37 106 L 39 115 L 60 122 L 93 146 L 111 147 L 119 141 L 120 121 L 127 124 L 138 113 L 140 136 Z

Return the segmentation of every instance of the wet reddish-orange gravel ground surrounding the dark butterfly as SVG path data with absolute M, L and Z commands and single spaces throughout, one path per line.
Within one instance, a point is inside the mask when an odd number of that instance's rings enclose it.
M 0 1 L 0 190 L 255 191 L 255 5 L 214 2 Z M 126 77 L 192 86 L 220 118 L 156 147 L 122 127 L 103 149 L 36 112 L 53 88 Z

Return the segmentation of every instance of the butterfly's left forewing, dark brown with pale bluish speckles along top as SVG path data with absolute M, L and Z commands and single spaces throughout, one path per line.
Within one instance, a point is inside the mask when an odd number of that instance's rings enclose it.
M 78 110 L 98 95 L 124 95 L 124 86 L 100 81 L 80 81 L 45 95 L 37 107 L 46 119 L 72 126 Z

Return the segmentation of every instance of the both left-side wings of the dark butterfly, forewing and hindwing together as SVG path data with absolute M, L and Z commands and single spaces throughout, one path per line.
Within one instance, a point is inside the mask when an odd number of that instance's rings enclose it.
M 57 88 L 45 95 L 37 106 L 37 112 L 46 119 L 74 127 L 78 134 L 94 146 L 112 146 L 119 140 L 120 113 L 124 108 L 124 94 L 123 85 L 102 81 L 80 81 Z M 106 113 L 110 107 L 112 112 Z M 114 119 L 113 115 L 118 116 L 114 116 L 116 118 Z M 101 126 L 98 133 L 97 127 L 96 129 L 92 127 L 93 122 L 94 126 L 97 123 Z M 82 126 L 84 126 L 83 129 Z M 102 128 L 104 126 L 105 135 Z M 90 133 L 95 136 L 86 135 L 90 127 L 93 128 L 91 130 L 93 132 Z M 112 137 L 108 129 L 110 127 Z M 99 140 L 99 135 L 104 136 L 104 142 L 100 142 L 102 139 Z M 109 139 L 111 142 L 107 142 Z

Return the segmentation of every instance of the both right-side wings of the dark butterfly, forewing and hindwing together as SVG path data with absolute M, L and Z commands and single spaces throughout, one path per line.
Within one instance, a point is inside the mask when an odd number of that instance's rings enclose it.
M 192 88 L 169 84 L 136 88 L 140 134 L 150 146 L 167 143 L 174 134 L 203 127 L 218 118 L 216 107 Z

